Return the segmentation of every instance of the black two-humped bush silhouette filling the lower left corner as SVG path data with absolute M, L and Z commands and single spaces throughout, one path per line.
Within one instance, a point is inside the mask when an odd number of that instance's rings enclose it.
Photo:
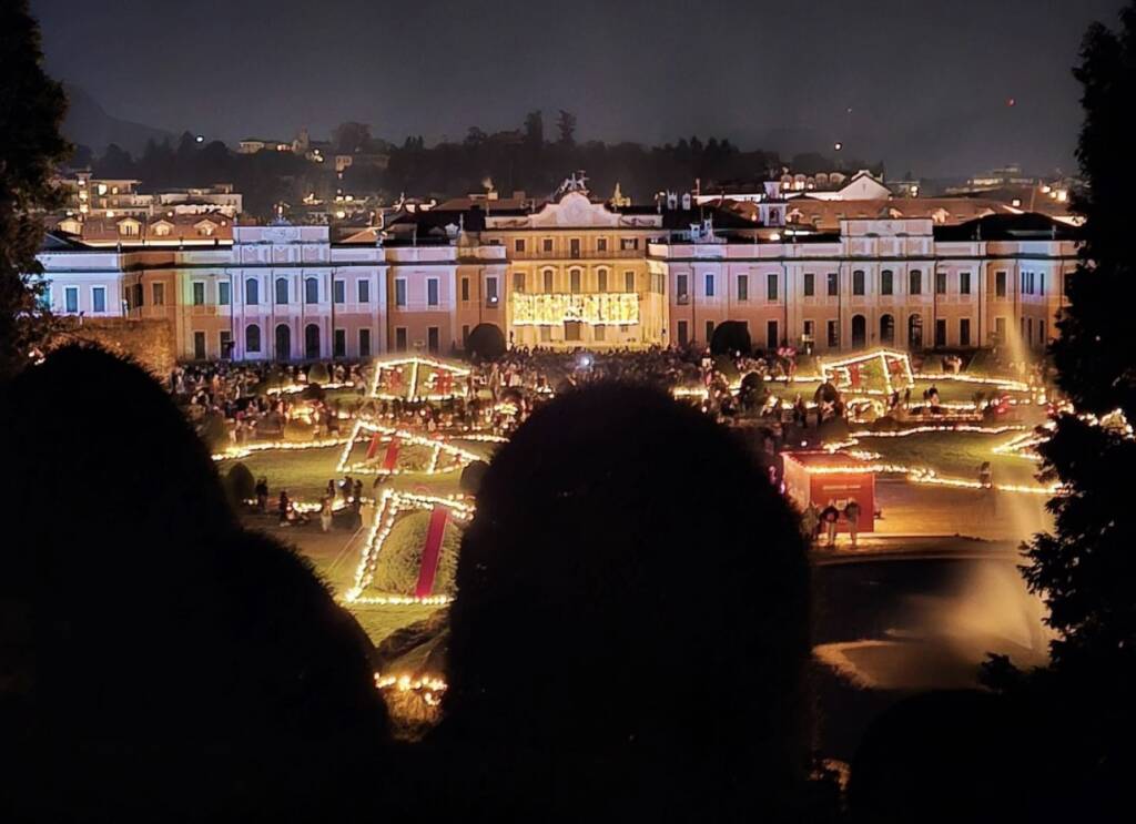
M 36 617 L 26 678 L 0 687 L 0 749 L 42 770 L 0 806 L 272 818 L 337 809 L 381 770 L 369 641 L 307 561 L 241 530 L 140 368 L 53 353 L 0 389 L 0 451 L 19 513 L 0 600 Z M 5 649 L 25 648 L 15 627 Z

